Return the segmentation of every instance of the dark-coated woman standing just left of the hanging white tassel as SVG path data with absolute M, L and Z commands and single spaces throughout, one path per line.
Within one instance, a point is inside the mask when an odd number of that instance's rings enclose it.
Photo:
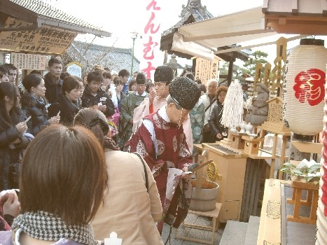
M 228 87 L 226 86 L 217 87 L 217 104 L 212 109 L 208 120 L 211 127 L 211 141 L 209 143 L 221 141 L 223 138 L 227 137 L 228 128 L 221 124 L 221 116 L 223 116 L 223 102 L 225 101 L 227 90 Z

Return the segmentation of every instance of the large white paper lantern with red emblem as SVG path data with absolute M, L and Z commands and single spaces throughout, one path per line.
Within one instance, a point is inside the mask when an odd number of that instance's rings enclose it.
M 327 63 L 327 49 L 323 44 L 319 39 L 301 39 L 287 58 L 283 116 L 286 127 L 294 132 L 294 139 L 310 140 L 323 128 Z

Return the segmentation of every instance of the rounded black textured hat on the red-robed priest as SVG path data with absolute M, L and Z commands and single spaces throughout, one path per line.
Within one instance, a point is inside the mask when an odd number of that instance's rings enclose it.
M 169 84 L 169 94 L 183 109 L 192 110 L 201 96 L 201 90 L 193 80 L 180 76 Z

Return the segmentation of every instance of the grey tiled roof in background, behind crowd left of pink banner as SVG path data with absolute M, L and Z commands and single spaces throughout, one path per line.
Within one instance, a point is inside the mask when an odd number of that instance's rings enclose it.
M 95 64 L 115 71 L 130 71 L 131 68 L 132 50 L 128 48 L 73 41 L 66 52 L 72 60 L 81 63 L 86 71 L 90 71 Z M 139 63 L 139 59 L 134 57 L 133 71 L 139 71 Z

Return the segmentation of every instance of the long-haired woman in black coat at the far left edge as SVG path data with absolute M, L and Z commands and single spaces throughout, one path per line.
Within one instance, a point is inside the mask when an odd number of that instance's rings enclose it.
M 13 83 L 0 83 L 0 190 L 18 188 L 18 172 L 10 169 L 19 168 L 22 151 L 31 139 L 25 134 L 27 123 L 18 107 L 19 96 Z

